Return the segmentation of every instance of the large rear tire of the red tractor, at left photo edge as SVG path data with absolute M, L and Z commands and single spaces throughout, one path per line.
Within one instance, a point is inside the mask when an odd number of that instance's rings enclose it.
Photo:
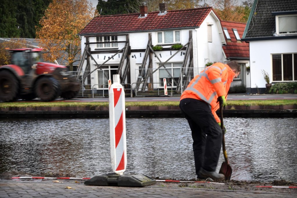
M 18 99 L 18 79 L 9 71 L 0 71 L 0 101 L 13 102 Z

